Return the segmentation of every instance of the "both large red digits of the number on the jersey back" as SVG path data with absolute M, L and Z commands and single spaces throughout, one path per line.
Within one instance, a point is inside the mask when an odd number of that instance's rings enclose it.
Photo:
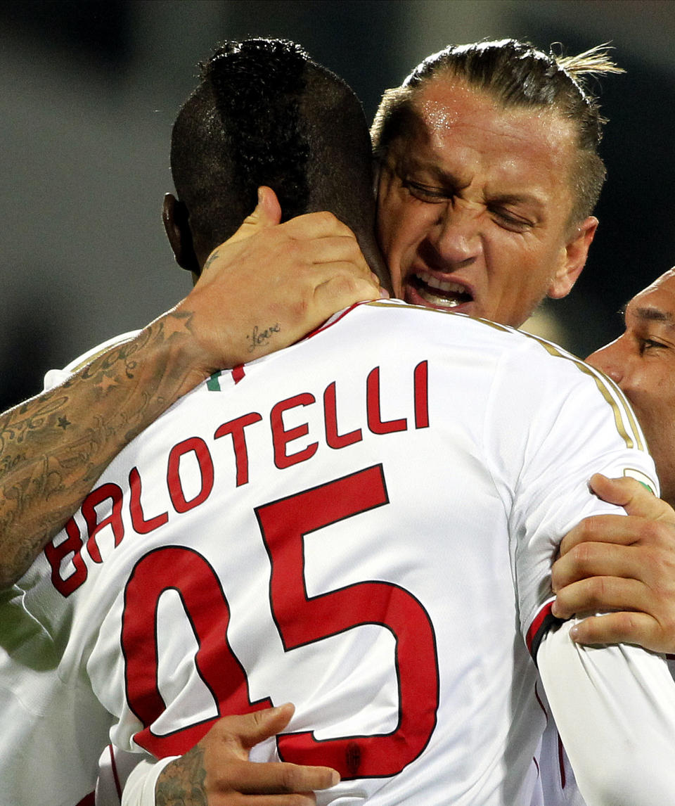
M 433 733 L 439 690 L 436 641 L 420 601 L 399 585 L 381 581 L 358 582 L 312 597 L 305 584 L 304 535 L 387 503 L 383 470 L 377 465 L 255 509 L 271 560 L 271 613 L 285 650 L 364 624 L 388 629 L 395 638 L 395 729 L 327 740 L 317 740 L 309 731 L 281 735 L 277 743 L 282 760 L 327 764 L 350 778 L 395 775 L 424 750 Z M 250 713 L 271 704 L 267 698 L 251 701 L 246 670 L 228 641 L 230 606 L 216 571 L 193 549 L 155 549 L 136 563 L 126 584 L 121 638 L 127 700 L 143 723 L 134 738 L 158 758 L 184 753 L 218 718 L 184 725 L 179 716 L 174 725 L 184 727 L 161 735 L 153 732 L 166 708 L 158 680 L 155 622 L 159 598 L 167 590 L 180 596 L 192 626 L 198 644 L 193 662 L 217 705 L 214 712 Z M 349 708 L 349 702 L 345 706 Z

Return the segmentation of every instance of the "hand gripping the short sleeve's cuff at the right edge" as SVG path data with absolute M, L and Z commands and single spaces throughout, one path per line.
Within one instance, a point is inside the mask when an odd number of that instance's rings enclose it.
M 565 536 L 553 564 L 553 614 L 614 611 L 581 621 L 574 640 L 675 652 L 675 512 L 630 478 L 596 474 L 590 485 L 627 517 L 588 517 Z

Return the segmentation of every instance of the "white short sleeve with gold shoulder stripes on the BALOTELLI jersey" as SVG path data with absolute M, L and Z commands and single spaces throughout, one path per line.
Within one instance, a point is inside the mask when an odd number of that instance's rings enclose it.
M 495 372 L 486 452 L 508 512 L 520 627 L 534 654 L 547 626 L 561 539 L 585 517 L 624 513 L 590 492 L 590 476 L 636 476 L 659 491 L 644 435 L 619 388 L 561 351 L 552 360 L 538 343 L 525 347 L 531 349 L 507 355 Z

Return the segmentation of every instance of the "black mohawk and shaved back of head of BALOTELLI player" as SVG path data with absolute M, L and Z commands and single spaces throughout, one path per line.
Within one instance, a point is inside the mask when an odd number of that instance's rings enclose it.
M 372 152 L 366 118 L 341 78 L 299 45 L 247 39 L 217 48 L 172 131 L 176 193 L 197 251 L 208 254 L 255 208 L 259 185 L 282 220 L 330 210 L 374 241 Z

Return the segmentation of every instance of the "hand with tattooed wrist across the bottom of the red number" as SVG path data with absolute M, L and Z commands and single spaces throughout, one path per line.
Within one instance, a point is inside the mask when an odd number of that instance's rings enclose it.
M 312 806 L 312 790 L 338 783 L 329 767 L 248 760 L 251 747 L 288 725 L 292 704 L 223 717 L 192 750 L 170 762 L 155 787 L 157 806 Z

